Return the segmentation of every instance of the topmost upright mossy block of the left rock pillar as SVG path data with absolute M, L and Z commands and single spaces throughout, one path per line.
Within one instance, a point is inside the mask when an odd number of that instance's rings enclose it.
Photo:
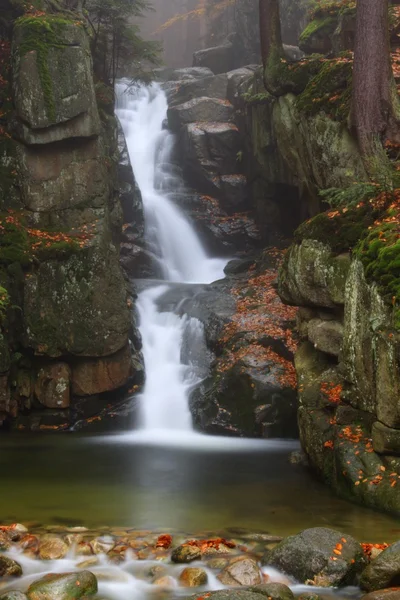
M 58 15 L 21 17 L 14 28 L 13 56 L 18 130 L 25 143 L 48 144 L 99 133 L 83 23 Z

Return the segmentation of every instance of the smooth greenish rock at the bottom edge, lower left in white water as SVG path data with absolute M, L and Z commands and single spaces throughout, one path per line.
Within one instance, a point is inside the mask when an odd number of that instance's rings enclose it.
M 97 593 L 97 579 L 90 571 L 50 574 L 32 583 L 29 600 L 74 600 Z

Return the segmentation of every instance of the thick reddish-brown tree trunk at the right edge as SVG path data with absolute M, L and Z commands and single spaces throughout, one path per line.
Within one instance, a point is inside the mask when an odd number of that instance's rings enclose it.
M 396 86 L 390 60 L 388 0 L 358 0 L 352 122 L 361 152 L 373 156 L 385 138 L 400 141 Z

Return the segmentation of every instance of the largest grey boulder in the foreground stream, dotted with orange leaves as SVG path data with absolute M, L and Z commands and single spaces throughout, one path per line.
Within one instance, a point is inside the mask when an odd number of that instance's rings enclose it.
M 302 583 L 329 587 L 354 584 L 366 558 L 354 538 L 315 527 L 283 540 L 266 554 L 264 562 Z

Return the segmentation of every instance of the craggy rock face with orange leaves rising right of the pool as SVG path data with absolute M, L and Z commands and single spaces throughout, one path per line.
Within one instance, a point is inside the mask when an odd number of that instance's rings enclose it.
M 300 438 L 311 465 L 340 495 L 400 514 L 398 334 L 357 257 L 338 253 L 333 238 L 315 239 L 328 219 L 299 230 L 279 277 L 283 300 L 302 307 Z

